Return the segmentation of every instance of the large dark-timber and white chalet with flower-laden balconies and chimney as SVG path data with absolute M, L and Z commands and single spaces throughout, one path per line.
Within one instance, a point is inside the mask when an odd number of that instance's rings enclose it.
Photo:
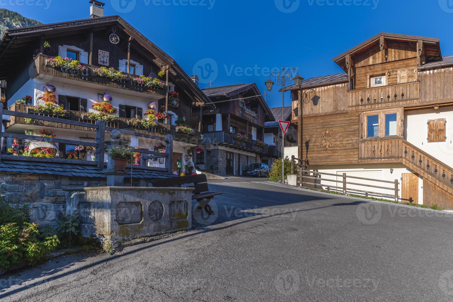
M 161 143 L 159 138 L 172 134 L 175 169 L 178 158 L 184 167 L 190 161 L 188 149 L 201 143 L 198 112 L 216 107 L 173 58 L 121 17 L 103 16 L 103 3 L 95 0 L 90 3 L 92 14 L 89 19 L 8 29 L 3 33 L 0 79 L 5 83 L 1 88 L 1 95 L 6 100 L 4 108 L 37 116 L 36 119 L 4 116 L 6 132 L 23 134 L 27 129 L 47 129 L 57 137 L 80 140 L 81 144 L 93 142 L 95 129 L 90 125 L 96 124 L 96 118 L 89 114 L 99 113 L 93 105 L 102 101 L 106 93 L 111 95 L 111 105 L 116 108 L 116 113 L 107 117 L 107 127 L 126 130 L 122 139 L 130 141 L 131 146 L 147 150 L 154 150 Z M 57 56 L 77 60 L 86 68 L 53 67 L 51 61 Z M 96 72 L 100 67 L 118 71 L 122 76 L 117 79 L 100 75 Z M 140 76 L 159 80 L 161 85 L 146 85 Z M 58 117 L 84 122 L 86 126 L 39 120 L 39 116 L 54 116 L 37 111 L 35 107 L 43 103 L 43 86 L 48 84 L 55 87 L 53 93 L 58 105 L 66 110 Z M 169 96 L 169 91 L 178 93 L 177 102 Z M 25 96 L 31 98 L 16 102 Z M 143 126 L 137 119 L 147 118 L 145 112 L 152 102 L 157 105 L 156 114 L 161 112 L 166 118 L 158 120 L 156 125 Z M 182 124 L 193 131 L 187 128 L 179 131 L 178 125 Z M 136 136 L 131 132 L 143 135 Z M 157 139 L 149 139 L 151 137 Z M 4 153 L 11 147 L 11 142 L 12 138 L 7 139 Z M 19 144 L 22 145 L 22 140 Z M 60 157 L 64 158 L 68 151 L 74 151 L 74 146 L 60 144 Z M 157 159 L 142 164 L 164 166 Z

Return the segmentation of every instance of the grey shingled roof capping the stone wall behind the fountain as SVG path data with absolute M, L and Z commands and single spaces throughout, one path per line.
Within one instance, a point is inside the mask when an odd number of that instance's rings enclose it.
M 100 177 L 105 178 L 106 174 L 103 173 L 102 168 L 89 165 L 78 165 L 70 163 L 40 163 L 22 160 L 2 160 L 0 162 L 0 172 L 17 172 L 17 173 L 30 173 L 30 174 L 52 174 L 59 176 L 69 177 Z M 174 177 L 172 173 L 132 169 L 133 178 L 168 178 Z M 130 178 L 130 169 L 126 170 L 124 177 Z

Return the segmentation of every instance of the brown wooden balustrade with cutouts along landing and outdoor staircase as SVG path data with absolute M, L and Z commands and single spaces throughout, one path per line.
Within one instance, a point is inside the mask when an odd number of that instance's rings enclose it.
M 404 139 L 359 143 L 359 163 L 403 163 L 453 194 L 453 168 Z

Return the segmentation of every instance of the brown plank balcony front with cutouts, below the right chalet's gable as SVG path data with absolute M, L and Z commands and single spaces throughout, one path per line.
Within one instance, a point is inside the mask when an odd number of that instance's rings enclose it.
M 418 104 L 419 99 L 419 81 L 347 91 L 351 111 Z

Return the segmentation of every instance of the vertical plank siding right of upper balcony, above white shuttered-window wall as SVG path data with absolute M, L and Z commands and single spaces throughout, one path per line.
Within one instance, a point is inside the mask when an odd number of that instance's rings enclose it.
M 453 67 L 421 71 L 420 102 L 453 101 Z

